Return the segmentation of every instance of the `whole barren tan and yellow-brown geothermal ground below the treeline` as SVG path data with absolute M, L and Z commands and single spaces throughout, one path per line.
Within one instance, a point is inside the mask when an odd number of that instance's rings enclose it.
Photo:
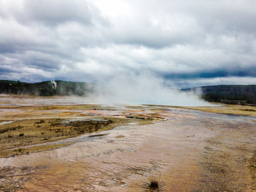
M 255 107 L 195 109 L 0 96 L 0 191 L 256 191 Z

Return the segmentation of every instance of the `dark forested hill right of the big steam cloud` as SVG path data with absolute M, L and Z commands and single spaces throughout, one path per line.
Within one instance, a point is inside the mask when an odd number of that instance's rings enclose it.
M 201 86 L 182 91 L 202 90 L 202 99 L 209 102 L 220 102 L 221 99 L 244 100 L 249 104 L 256 104 L 256 85 L 214 85 Z

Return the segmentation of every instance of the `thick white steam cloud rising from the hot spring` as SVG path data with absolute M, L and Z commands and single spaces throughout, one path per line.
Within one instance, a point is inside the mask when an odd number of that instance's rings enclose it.
M 97 94 L 100 103 L 132 103 L 170 106 L 210 106 L 199 98 L 199 90 L 181 92 L 164 86 L 163 79 L 151 74 L 117 75 L 108 81 L 98 81 Z

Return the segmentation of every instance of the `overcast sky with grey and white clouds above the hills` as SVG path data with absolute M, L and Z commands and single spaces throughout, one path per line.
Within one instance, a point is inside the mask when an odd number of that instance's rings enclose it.
M 178 87 L 256 84 L 255 7 L 255 0 L 0 0 L 0 79 L 96 82 L 146 73 Z

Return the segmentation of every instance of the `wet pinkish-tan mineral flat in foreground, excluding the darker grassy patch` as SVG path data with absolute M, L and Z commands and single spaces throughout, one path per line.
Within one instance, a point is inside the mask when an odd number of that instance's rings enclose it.
M 5 98 L 4 102 L 17 101 Z M 9 110 L 2 110 L 1 120 L 10 121 L 8 113 L 27 113 Z M 0 158 L 0 186 L 17 185 L 19 191 L 256 191 L 256 168 L 251 162 L 256 149 L 253 116 L 146 106 L 91 113 L 122 118 L 154 113 L 162 119 L 116 127 L 99 137 L 86 133 L 57 141 L 74 141 L 59 149 Z M 159 188 L 150 190 L 150 175 L 160 174 Z

